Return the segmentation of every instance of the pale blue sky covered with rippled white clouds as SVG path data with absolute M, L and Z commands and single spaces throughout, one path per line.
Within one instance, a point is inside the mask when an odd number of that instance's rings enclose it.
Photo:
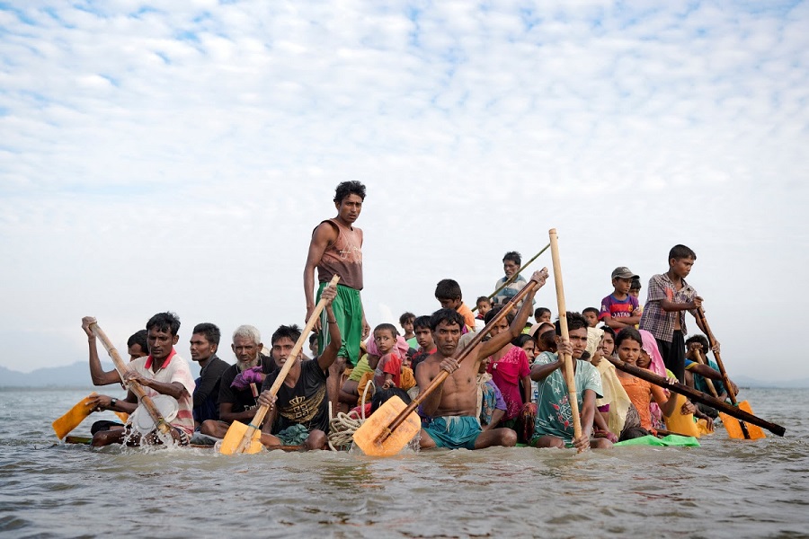
M 157 312 L 303 324 L 335 186 L 369 323 L 467 303 L 559 236 L 568 311 L 672 245 L 733 375 L 809 376 L 809 4 L 0 1 L 0 366 Z M 529 270 L 551 266 L 549 252 Z M 537 305 L 556 315 L 552 280 Z M 690 328 L 696 330 L 689 317 Z

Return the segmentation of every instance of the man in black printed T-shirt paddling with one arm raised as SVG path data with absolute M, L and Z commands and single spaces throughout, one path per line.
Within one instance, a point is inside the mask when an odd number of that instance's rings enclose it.
M 325 287 L 321 299 L 326 298 L 326 323 L 328 325 L 329 339 L 323 353 L 314 359 L 302 361 L 302 354 L 296 358 L 289 358 L 289 352 L 300 336 L 298 326 L 291 326 L 297 334 L 290 334 L 282 340 L 275 340 L 275 335 L 289 326 L 281 326 L 273 334 L 273 358 L 279 367 L 287 361 L 295 363 L 289 368 L 289 373 L 280 385 L 278 393 L 273 396 L 270 392 L 272 384 L 280 374 L 280 369 L 264 379 L 259 404 L 269 407 L 270 412 L 264 420 L 262 428 L 262 444 L 271 448 L 280 446 L 303 446 L 303 449 L 324 449 L 328 442 L 326 435 L 329 432 L 329 399 L 326 392 L 326 378 L 329 367 L 337 359 L 337 353 L 342 346 L 342 336 L 337 319 L 334 317 L 332 302 L 337 296 L 334 287 Z M 288 346 L 283 347 L 282 345 Z M 285 353 L 276 357 L 276 347 L 283 348 Z

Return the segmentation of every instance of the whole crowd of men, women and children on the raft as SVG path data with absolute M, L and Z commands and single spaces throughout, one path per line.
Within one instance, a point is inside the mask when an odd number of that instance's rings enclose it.
M 270 412 L 262 425 L 264 446 L 327 446 L 330 417 L 339 412 L 365 417 L 393 395 L 410 402 L 446 371 L 449 376 L 423 396 L 420 446 L 479 449 L 487 446 L 605 448 L 619 439 L 671 430 L 689 434 L 713 429 L 716 411 L 695 406 L 680 395 L 617 370 L 607 360 L 617 357 L 636 367 L 696 387 L 720 399 L 723 376 L 707 358 L 709 344 L 702 335 L 688 340 L 686 312 L 695 315 L 702 299 L 685 280 L 696 254 L 684 245 L 669 252 L 668 269 L 649 279 L 644 305 L 639 302 L 639 276 L 627 267 L 612 272 L 613 291 L 600 307 L 552 322 L 551 310 L 534 308 L 534 296 L 547 280 L 547 270 L 534 271 L 536 283 L 520 302 L 511 302 L 528 283 L 520 275 L 519 252 L 507 252 L 503 277 L 492 296 L 481 296 L 471 309 L 458 282 L 440 280 L 435 297 L 440 308 L 417 316 L 405 313 L 399 327 L 379 323 L 371 331 L 362 305 L 362 240 L 354 225 L 366 190 L 360 182 L 338 185 L 337 215 L 316 226 L 304 269 L 307 322 L 323 300 L 324 309 L 308 338 L 308 353 L 292 356 L 301 339 L 297 325 L 281 325 L 266 348 L 261 332 L 252 325 L 233 331 L 231 349 L 236 364 L 218 358 L 221 331 L 214 323 L 199 323 L 191 331 L 191 360 L 200 365 L 194 380 L 188 362 L 174 348 L 180 321 L 175 314 L 159 313 L 146 329 L 129 339 L 129 372 L 104 371 L 91 326 L 82 327 L 89 340 L 93 384 L 137 381 L 150 396 L 168 395 L 176 402 L 170 417 L 179 444 L 212 442 L 225 437 L 234 421 L 250 423 L 260 405 Z M 328 283 L 340 276 L 334 287 Z M 319 285 L 316 287 L 316 281 Z M 508 312 L 502 314 L 503 309 Z M 475 313 L 477 311 L 477 313 Z M 529 323 L 529 318 L 533 322 Z M 401 329 L 401 331 L 400 331 Z M 476 333 L 483 340 L 467 349 Z M 718 343 L 713 343 L 718 347 Z M 581 434 L 576 437 L 573 410 L 563 370 L 565 355 L 573 358 L 573 378 Z M 271 385 L 281 368 L 292 361 L 278 393 Z M 93 396 L 94 410 L 127 414 L 138 411 L 131 391 L 124 399 Z M 676 425 L 676 429 L 667 429 Z M 97 421 L 93 445 L 137 445 L 147 432 L 126 423 Z M 151 440 L 150 440 L 151 441 Z

